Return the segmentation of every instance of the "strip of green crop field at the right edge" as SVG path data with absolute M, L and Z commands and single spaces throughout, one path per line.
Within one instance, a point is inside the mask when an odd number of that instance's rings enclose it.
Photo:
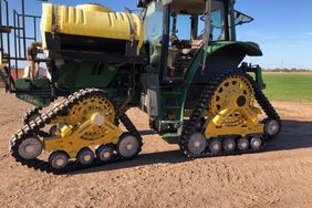
M 312 73 L 264 73 L 263 79 L 271 101 L 312 102 Z

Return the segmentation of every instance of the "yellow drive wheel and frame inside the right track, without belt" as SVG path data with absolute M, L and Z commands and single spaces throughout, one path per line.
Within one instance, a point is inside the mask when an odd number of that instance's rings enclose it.
M 237 100 L 245 96 L 246 104 L 239 106 Z M 207 138 L 249 134 L 261 134 L 264 125 L 259 122 L 261 110 L 254 106 L 252 86 L 245 77 L 233 75 L 225 80 L 216 90 L 210 103 L 205 135 Z

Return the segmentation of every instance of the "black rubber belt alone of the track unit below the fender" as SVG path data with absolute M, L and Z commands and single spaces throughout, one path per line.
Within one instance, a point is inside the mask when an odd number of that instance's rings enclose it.
M 188 139 L 189 139 L 189 137 L 193 133 L 198 131 L 197 124 L 199 123 L 204 111 L 206 110 L 206 107 L 210 103 L 211 97 L 214 96 L 214 93 L 217 91 L 218 85 L 231 75 L 242 76 L 250 82 L 250 84 L 253 89 L 253 92 L 254 92 L 254 97 L 256 97 L 257 102 L 259 103 L 259 105 L 261 106 L 262 111 L 267 114 L 269 119 L 277 119 L 280 124 L 280 127 L 281 127 L 280 116 L 278 115 L 278 113 L 275 112 L 275 110 L 273 108 L 273 106 L 271 105 L 269 100 L 266 97 L 266 95 L 262 93 L 262 91 L 259 89 L 256 81 L 249 74 L 247 74 L 242 71 L 238 71 L 238 70 L 231 70 L 231 71 L 227 71 L 225 73 L 219 73 L 215 76 L 212 82 L 208 83 L 208 85 L 204 90 L 195 111 L 193 112 L 189 121 L 186 123 L 186 125 L 183 128 L 183 133 L 181 133 L 180 141 L 179 141 L 179 146 L 180 146 L 180 150 L 183 152 L 183 154 L 185 154 L 187 157 L 198 158 L 198 157 L 214 157 L 214 156 L 222 156 L 222 155 L 237 155 L 237 154 L 246 154 L 246 153 L 256 153 L 256 152 L 260 152 L 261 149 L 263 149 L 263 147 L 266 146 L 266 143 L 270 142 L 273 138 L 273 137 L 269 137 L 268 135 L 263 134 L 263 136 L 261 137 L 262 141 L 263 141 L 263 144 L 262 144 L 261 148 L 258 149 L 258 150 L 253 150 L 253 149 L 249 148 L 247 150 L 237 149 L 237 150 L 233 150 L 233 152 L 230 152 L 230 153 L 223 150 L 223 152 L 218 153 L 218 154 L 211 154 L 211 153 L 208 152 L 208 148 L 206 148 L 206 150 L 202 154 L 194 155 L 188 149 L 188 146 L 187 146 Z M 204 132 L 204 129 L 202 129 L 202 132 Z

